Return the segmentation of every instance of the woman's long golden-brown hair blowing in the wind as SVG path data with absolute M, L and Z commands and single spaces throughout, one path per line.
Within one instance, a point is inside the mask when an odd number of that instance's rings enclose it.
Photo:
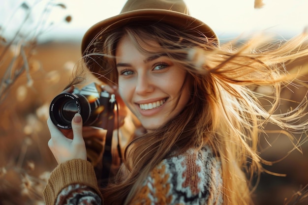
M 201 34 L 195 36 L 160 23 L 128 25 L 104 35 L 106 40 L 101 42 L 98 37 L 92 52 L 102 59 L 102 75 L 116 72 L 117 43 L 128 36 L 146 55 L 149 52 L 141 45 L 153 46 L 149 42 L 158 42 L 159 47 L 154 50 L 167 54 L 187 71 L 187 78 L 193 79 L 190 100 L 183 112 L 155 132 L 135 138 L 125 148 L 116 182 L 102 190 L 105 204 L 129 204 L 161 160 L 204 145 L 211 146 L 220 159 L 224 204 L 252 204 L 252 176 L 264 171 L 262 163 L 270 164 L 257 150 L 265 124 L 278 125 L 288 136 L 293 136 L 294 130 L 305 132 L 308 128 L 307 121 L 289 123 L 306 114 L 306 100 L 295 110 L 275 113 L 281 85 L 295 79 L 286 71 L 284 62 L 308 56 L 307 46 L 303 46 L 307 35 L 277 47 L 265 47 L 252 40 L 239 49 L 231 43 L 216 45 Z M 117 84 L 116 78 L 106 81 Z M 267 96 L 252 89 L 260 85 L 270 86 L 273 93 Z M 261 98 L 272 100 L 270 109 L 262 106 Z

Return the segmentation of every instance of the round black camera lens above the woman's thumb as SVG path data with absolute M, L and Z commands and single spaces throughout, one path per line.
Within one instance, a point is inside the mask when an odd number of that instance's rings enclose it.
M 87 98 L 75 93 L 61 93 L 50 104 L 49 115 L 52 122 L 61 129 L 70 129 L 71 121 L 76 113 L 80 113 L 83 121 L 87 121 L 91 108 Z

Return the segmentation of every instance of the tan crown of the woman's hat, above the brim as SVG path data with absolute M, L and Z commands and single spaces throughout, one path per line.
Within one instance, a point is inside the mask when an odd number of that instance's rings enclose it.
M 127 0 L 121 13 L 141 9 L 162 9 L 189 15 L 187 6 L 183 0 Z

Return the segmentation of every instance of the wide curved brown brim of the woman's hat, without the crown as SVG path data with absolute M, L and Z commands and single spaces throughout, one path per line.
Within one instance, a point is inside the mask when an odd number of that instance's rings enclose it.
M 139 9 L 121 13 L 117 16 L 105 19 L 93 25 L 85 33 L 82 39 L 82 56 L 85 57 L 86 55 L 91 54 L 93 42 L 97 37 L 103 41 L 104 39 L 102 38 L 104 38 L 104 33 L 109 33 L 114 29 L 124 27 L 125 25 L 131 23 L 136 24 L 139 22 L 140 24 L 153 24 L 158 22 L 165 23 L 174 28 L 185 30 L 185 32 L 192 33 L 196 36 L 206 36 L 209 41 L 219 44 L 219 40 L 215 32 L 208 25 L 196 18 L 171 10 Z M 105 82 L 106 79 L 109 79 L 110 81 L 116 81 L 117 78 L 113 72 L 103 72 L 99 57 L 98 59 L 95 59 L 94 56 L 91 56 L 91 58 L 85 58 L 84 60 L 87 67 L 100 81 Z

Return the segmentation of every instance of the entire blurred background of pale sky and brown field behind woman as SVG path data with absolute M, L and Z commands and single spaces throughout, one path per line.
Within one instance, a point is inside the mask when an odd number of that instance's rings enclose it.
M 117 15 L 124 2 L 0 1 L 0 205 L 44 205 L 42 190 L 56 166 L 47 146 L 50 102 L 69 82 L 81 57 L 80 41 L 85 31 L 96 22 Z M 307 0 L 186 3 L 190 14 L 214 29 L 222 43 L 237 37 L 245 40 L 259 32 L 276 39 L 290 39 L 308 26 Z M 289 66 L 307 62 L 308 59 L 301 59 Z M 304 88 L 294 89 L 296 93 L 284 89 L 282 97 L 299 102 L 306 96 Z M 289 109 L 296 103 L 283 106 L 281 109 Z M 262 138 L 260 146 L 266 160 L 283 159 L 265 166 L 281 176 L 261 175 L 254 192 L 255 204 L 285 205 L 290 200 L 289 205 L 307 205 L 308 200 L 301 202 L 306 198 L 308 184 L 307 143 L 300 151 L 288 154 L 292 149 L 290 140 L 272 135 Z

